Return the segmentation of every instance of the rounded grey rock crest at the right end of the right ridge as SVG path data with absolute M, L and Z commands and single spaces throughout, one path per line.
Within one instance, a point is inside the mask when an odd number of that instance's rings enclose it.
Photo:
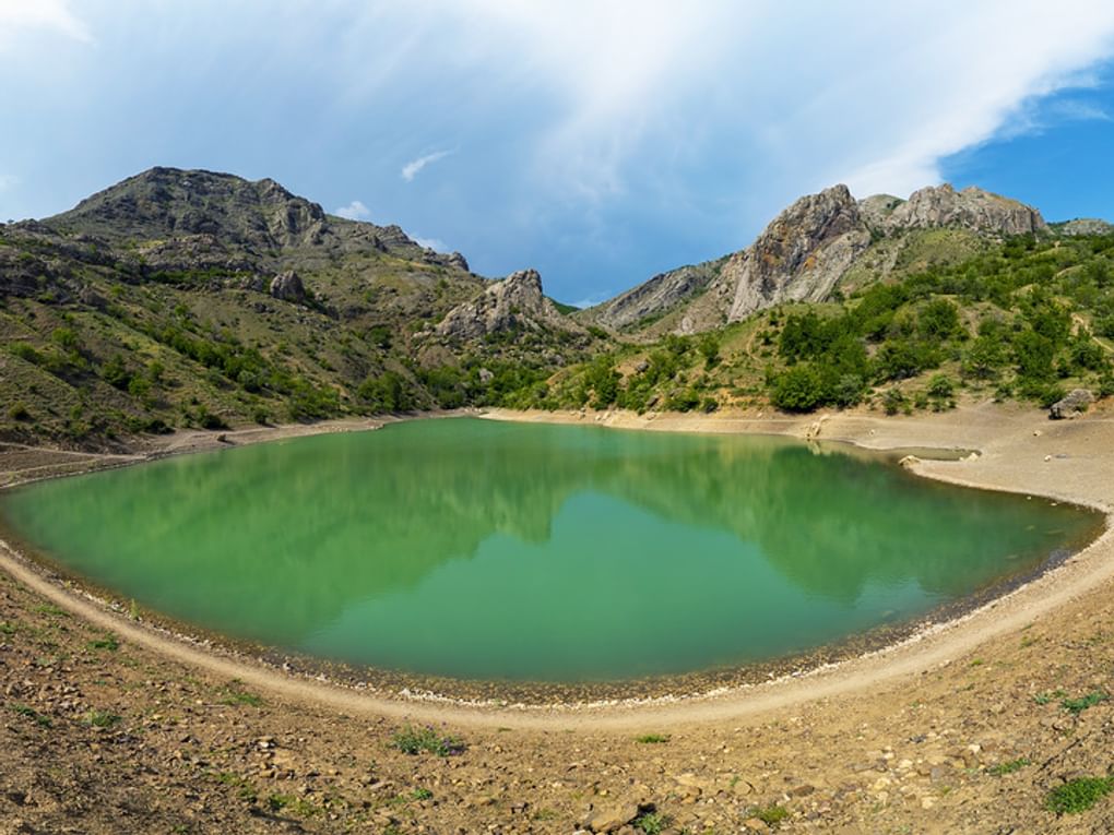
M 1032 206 L 974 186 L 957 191 L 947 183 L 913 191 L 880 225 L 888 233 L 955 227 L 995 235 L 1033 235 L 1047 228 Z

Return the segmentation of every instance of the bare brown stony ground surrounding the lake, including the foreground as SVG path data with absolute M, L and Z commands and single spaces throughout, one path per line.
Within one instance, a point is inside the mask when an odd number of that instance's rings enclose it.
M 995 405 L 913 419 L 598 418 L 819 432 L 873 449 L 978 449 L 974 461 L 917 466 L 1114 507 L 1105 410 L 1057 423 Z M 224 443 L 272 434 L 225 433 Z M 167 449 L 218 443 L 197 434 Z M 9 449 L 0 482 L 97 463 L 71 458 Z M 1059 818 L 1043 803 L 1065 778 L 1114 766 L 1112 703 L 1064 707 L 1114 694 L 1112 550 L 1106 534 L 960 623 L 833 670 L 588 711 L 461 711 L 316 686 L 160 638 L 88 601 L 81 608 L 8 558 L 23 572 L 0 573 L 0 833 L 571 833 L 593 821 L 622 831 L 638 806 L 691 833 L 1111 832 L 1111 798 Z M 440 757 L 391 747 L 409 718 L 467 749 Z M 646 735 L 667 740 L 638 740 Z

